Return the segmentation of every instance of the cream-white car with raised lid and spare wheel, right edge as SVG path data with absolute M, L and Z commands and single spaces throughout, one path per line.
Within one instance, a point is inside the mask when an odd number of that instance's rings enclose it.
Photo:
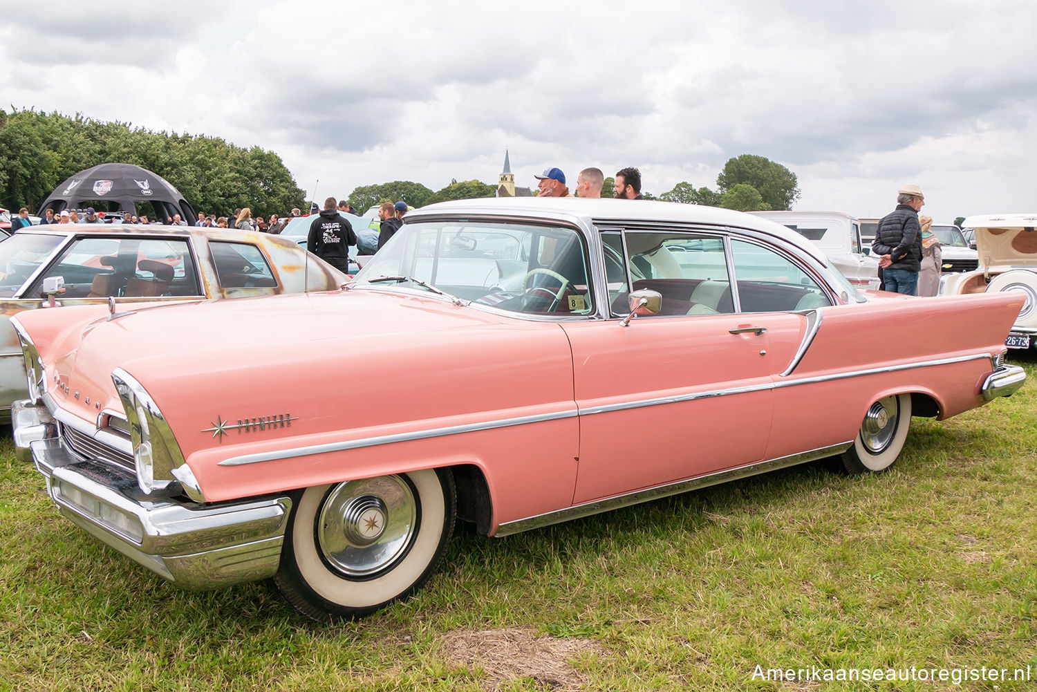
M 964 225 L 976 233 L 979 267 L 945 276 L 947 296 L 1014 293 L 1022 309 L 1005 338 L 1009 349 L 1030 349 L 1037 341 L 1037 214 L 971 216 Z

